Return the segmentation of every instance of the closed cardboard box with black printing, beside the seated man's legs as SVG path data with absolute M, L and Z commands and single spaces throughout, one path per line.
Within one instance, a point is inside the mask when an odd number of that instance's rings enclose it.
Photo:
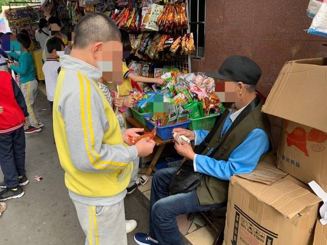
M 262 168 L 262 170 L 264 167 Z M 311 245 L 318 216 L 316 195 L 293 177 L 282 178 L 277 168 L 262 173 L 272 184 L 234 176 L 230 180 L 224 245 Z M 256 170 L 254 170 L 256 171 Z M 279 179 L 278 179 L 279 178 Z M 295 180 L 296 181 L 296 180 Z

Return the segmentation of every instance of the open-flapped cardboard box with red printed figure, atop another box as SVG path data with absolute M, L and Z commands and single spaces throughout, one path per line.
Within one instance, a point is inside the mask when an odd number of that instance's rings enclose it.
M 327 58 L 287 62 L 262 111 L 284 118 L 277 165 L 327 190 Z

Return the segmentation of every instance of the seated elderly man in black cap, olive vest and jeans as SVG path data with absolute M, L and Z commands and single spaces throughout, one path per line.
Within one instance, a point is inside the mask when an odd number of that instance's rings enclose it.
M 164 168 L 154 174 L 150 233 L 136 233 L 137 244 L 183 244 L 176 217 L 225 206 L 230 177 L 250 173 L 272 150 L 270 123 L 255 93 L 260 67 L 246 57 L 231 56 L 218 72 L 206 75 L 224 80 L 229 92 L 225 101 L 234 103 L 229 103 L 232 107 L 220 116 L 211 132 L 174 130 L 198 146 L 193 151 L 188 143 L 175 142 L 175 149 L 187 160 L 180 168 Z

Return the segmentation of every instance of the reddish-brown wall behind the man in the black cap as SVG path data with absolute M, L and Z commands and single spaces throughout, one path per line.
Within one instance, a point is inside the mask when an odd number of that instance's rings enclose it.
M 286 61 L 327 56 L 327 39 L 303 31 L 312 21 L 309 0 L 206 2 L 204 60 L 192 60 L 192 71 L 218 69 L 230 55 L 248 56 L 263 70 L 258 90 L 267 96 Z M 281 120 L 271 122 L 276 145 Z

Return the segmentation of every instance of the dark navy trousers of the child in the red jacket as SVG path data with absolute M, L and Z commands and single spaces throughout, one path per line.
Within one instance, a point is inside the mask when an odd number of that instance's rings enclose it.
M 0 166 L 7 188 L 18 186 L 18 176 L 25 175 L 24 127 L 8 134 L 0 134 Z

